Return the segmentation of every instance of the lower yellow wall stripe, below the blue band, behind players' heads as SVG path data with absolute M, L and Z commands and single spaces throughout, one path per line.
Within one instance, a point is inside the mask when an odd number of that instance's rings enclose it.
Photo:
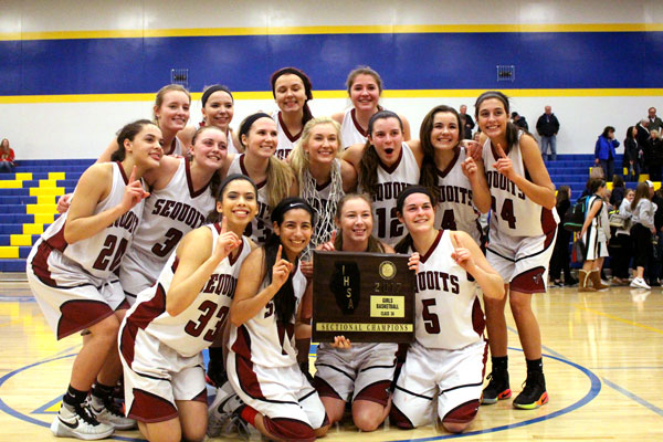
M 387 98 L 436 98 L 436 97 L 476 97 L 486 90 L 389 90 L 382 93 Z M 661 96 L 663 88 L 559 88 L 559 90 L 508 90 L 499 91 L 512 97 L 587 97 L 587 96 Z M 156 93 L 156 91 L 155 91 Z M 193 101 L 200 101 L 201 93 L 191 94 Z M 271 91 L 233 92 L 235 99 L 274 99 Z M 314 91 L 314 98 L 347 98 L 346 91 Z M 154 102 L 155 94 L 80 94 L 80 95 L 4 95 L 0 104 L 30 103 L 117 103 Z

